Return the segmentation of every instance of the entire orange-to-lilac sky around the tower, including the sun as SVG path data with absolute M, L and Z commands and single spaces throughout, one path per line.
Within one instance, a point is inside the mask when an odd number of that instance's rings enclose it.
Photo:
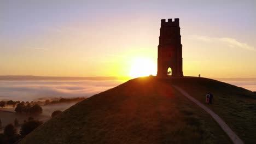
M 179 18 L 183 74 L 256 77 L 256 1 L 0 1 L 0 75 L 156 74 Z

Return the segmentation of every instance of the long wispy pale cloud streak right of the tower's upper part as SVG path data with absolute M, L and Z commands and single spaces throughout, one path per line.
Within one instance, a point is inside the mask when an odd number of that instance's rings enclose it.
M 201 41 L 206 41 L 206 42 L 211 42 L 211 43 L 224 43 L 225 45 L 229 47 L 238 47 L 241 49 L 245 50 L 250 50 L 250 51 L 255 51 L 253 46 L 250 46 L 246 43 L 241 43 L 240 41 L 233 39 L 233 38 L 215 38 L 215 37 L 207 37 L 205 35 L 191 35 L 189 37 L 190 39 L 196 39 L 196 40 L 201 40 Z

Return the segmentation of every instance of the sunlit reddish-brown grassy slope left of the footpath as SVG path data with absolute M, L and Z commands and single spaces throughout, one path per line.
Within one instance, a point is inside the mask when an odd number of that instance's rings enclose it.
M 231 142 L 205 111 L 166 81 L 140 78 L 81 101 L 20 143 Z

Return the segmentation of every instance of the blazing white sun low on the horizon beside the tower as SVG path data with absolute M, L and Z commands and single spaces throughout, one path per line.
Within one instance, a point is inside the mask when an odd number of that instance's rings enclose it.
M 156 63 L 148 58 L 133 58 L 131 62 L 130 76 L 141 77 L 156 75 Z

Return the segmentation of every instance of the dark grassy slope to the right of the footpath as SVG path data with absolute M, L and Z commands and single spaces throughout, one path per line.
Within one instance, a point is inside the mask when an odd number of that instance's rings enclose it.
M 256 94 L 247 89 L 216 80 L 187 77 L 166 81 L 182 87 L 191 96 L 205 101 L 205 94 L 214 94 L 213 105 L 207 105 L 222 117 L 245 143 L 256 143 Z

